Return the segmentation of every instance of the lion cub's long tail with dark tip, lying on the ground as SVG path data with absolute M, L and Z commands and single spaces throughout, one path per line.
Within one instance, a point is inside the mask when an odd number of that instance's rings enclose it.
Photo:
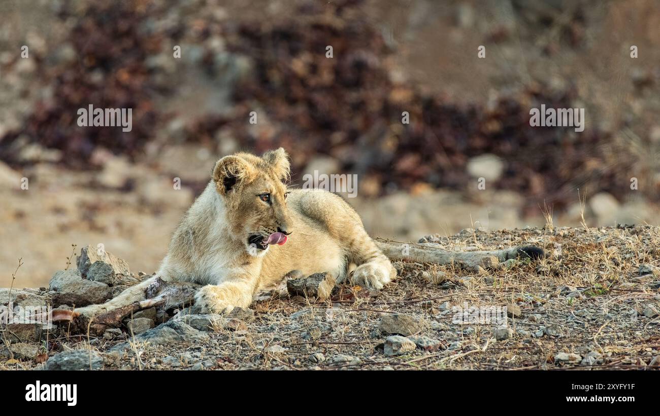
M 497 263 L 509 259 L 536 260 L 545 257 L 545 251 L 534 246 L 511 247 L 493 251 L 448 251 L 430 244 L 393 244 L 378 241 L 376 241 L 376 246 L 391 260 L 436 263 L 438 265 L 459 263 L 467 267 L 492 268 L 496 267 Z M 497 261 L 494 261 L 493 257 Z

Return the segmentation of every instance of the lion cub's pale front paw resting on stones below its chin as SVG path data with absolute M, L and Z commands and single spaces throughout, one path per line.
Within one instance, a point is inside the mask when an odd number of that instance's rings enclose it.
M 220 284 L 207 284 L 195 295 L 195 309 L 199 313 L 230 313 L 234 307 L 247 308 L 257 276 L 242 274 Z

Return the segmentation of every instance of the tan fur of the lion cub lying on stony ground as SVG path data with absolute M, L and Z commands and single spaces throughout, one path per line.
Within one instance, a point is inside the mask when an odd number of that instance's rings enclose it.
M 288 158 L 281 148 L 262 157 L 237 153 L 220 159 L 211 182 L 174 232 L 156 276 L 205 284 L 195 305 L 201 312 L 211 313 L 248 307 L 257 290 L 277 286 L 284 274 L 296 269 L 305 275 L 329 271 L 341 282 L 350 267 L 354 268 L 350 275 L 354 284 L 376 289 L 396 276 L 348 203 L 323 190 L 288 190 L 283 182 L 288 175 Z M 270 204 L 259 199 L 263 193 L 271 195 Z M 267 238 L 278 230 L 290 233 L 286 244 L 257 252 L 249 246 L 249 236 Z M 402 257 L 399 247 L 379 244 L 390 257 Z M 413 250 L 407 259 L 415 261 L 421 255 L 447 263 L 461 255 L 473 259 L 480 254 L 453 253 L 450 258 L 415 253 Z M 90 316 L 142 300 L 154 278 L 103 305 L 78 310 Z

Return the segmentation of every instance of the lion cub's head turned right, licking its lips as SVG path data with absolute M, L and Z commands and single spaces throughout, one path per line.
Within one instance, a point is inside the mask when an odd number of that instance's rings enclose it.
M 262 157 L 236 153 L 215 164 L 213 182 L 225 202 L 230 232 L 251 255 L 286 243 L 292 232 L 283 183 L 288 176 L 289 161 L 281 147 Z

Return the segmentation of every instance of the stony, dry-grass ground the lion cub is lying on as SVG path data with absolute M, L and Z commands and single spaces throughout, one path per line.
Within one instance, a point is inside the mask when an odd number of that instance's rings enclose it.
M 163 285 L 152 288 L 151 303 L 100 324 L 80 327 L 76 318 L 46 330 L 3 328 L 0 369 L 660 367 L 660 228 L 547 224 L 467 229 L 420 242 L 450 250 L 533 244 L 547 255 L 539 262 L 487 262 L 477 270 L 398 262 L 399 277 L 383 290 L 344 284 L 329 297 L 325 286 L 300 292 L 304 284 L 292 275 L 288 292 L 259 294 L 252 309 L 227 317 L 195 315 L 191 292 Z M 85 247 L 49 288 L 11 295 L 3 289 L 0 299 L 22 306 L 49 302 L 63 319 L 73 303 L 111 298 L 145 277 Z M 314 281 L 325 282 L 322 275 Z M 505 306 L 504 320 L 488 313 Z

